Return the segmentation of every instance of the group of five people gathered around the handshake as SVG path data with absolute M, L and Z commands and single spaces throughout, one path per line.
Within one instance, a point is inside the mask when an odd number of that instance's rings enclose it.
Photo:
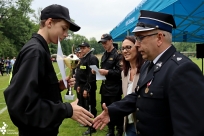
M 204 135 L 204 76 L 172 45 L 173 16 L 140 12 L 134 35 L 124 37 L 121 52 L 110 34 L 98 41 L 105 50 L 100 61 L 89 43 L 78 46 L 75 76 L 66 78 L 78 99 L 67 103 L 62 102 L 66 87 L 57 79 L 48 44 L 57 44 L 68 36 L 68 30 L 76 32 L 80 27 L 72 22 L 66 7 L 54 4 L 41 11 L 40 28 L 21 49 L 4 91 L 19 136 L 57 136 L 66 118 L 89 126 L 83 136 L 106 125 L 106 136 Z M 100 85 L 103 111 L 98 116 L 96 71 L 90 65 L 106 77 Z

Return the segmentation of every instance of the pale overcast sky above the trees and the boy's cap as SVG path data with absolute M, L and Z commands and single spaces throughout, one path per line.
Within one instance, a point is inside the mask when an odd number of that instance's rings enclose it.
M 33 0 L 31 8 L 60 4 L 69 9 L 70 17 L 81 26 L 77 34 L 95 37 L 109 33 L 141 0 Z

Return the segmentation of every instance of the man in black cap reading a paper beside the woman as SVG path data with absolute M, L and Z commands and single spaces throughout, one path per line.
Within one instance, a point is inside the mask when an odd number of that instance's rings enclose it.
M 113 46 L 110 34 L 103 34 L 98 43 L 101 43 L 105 49 L 101 58 L 101 69 L 99 69 L 99 73 L 106 76 L 106 80 L 102 81 L 100 88 L 101 104 L 110 105 L 122 98 L 121 54 Z M 117 129 L 116 136 L 122 136 L 123 122 L 123 117 L 118 118 L 117 121 L 110 121 L 106 136 L 115 136 L 115 126 Z

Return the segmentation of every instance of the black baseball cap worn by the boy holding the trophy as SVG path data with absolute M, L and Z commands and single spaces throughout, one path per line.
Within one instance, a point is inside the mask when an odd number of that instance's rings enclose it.
M 79 29 L 81 28 L 80 26 L 71 21 L 68 8 L 61 5 L 53 4 L 45 7 L 41 11 L 40 19 L 44 20 L 48 18 L 64 19 L 65 21 L 70 23 L 69 30 L 73 32 L 79 31 Z

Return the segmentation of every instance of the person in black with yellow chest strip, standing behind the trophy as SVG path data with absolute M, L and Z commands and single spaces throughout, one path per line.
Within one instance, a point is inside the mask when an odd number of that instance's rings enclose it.
M 90 65 L 99 66 L 99 61 L 96 56 L 92 54 L 93 48 L 86 42 L 79 45 L 81 51 L 80 63 L 77 67 L 76 79 L 77 79 L 77 92 L 80 94 L 80 104 L 96 117 L 96 75 L 92 74 Z M 89 109 L 89 105 L 91 109 Z M 83 135 L 88 135 L 94 133 L 96 130 L 94 128 L 88 128 Z

